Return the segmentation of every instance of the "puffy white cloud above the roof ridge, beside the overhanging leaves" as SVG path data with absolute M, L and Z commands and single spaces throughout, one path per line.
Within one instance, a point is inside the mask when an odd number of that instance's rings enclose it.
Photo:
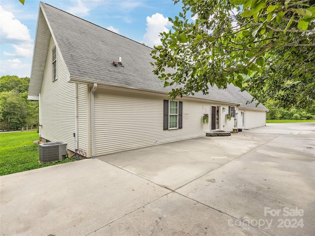
M 166 27 L 171 26 L 172 23 L 168 21 L 167 17 L 162 14 L 156 13 L 151 17 L 147 16 L 147 32 L 143 35 L 143 39 L 149 47 L 158 46 L 161 44 L 160 32 L 168 32 Z

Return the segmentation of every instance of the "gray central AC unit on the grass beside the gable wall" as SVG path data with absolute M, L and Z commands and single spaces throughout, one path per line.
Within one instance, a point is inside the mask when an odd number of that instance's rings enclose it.
M 67 154 L 67 144 L 63 142 L 48 142 L 39 145 L 39 161 L 42 163 L 61 161 Z

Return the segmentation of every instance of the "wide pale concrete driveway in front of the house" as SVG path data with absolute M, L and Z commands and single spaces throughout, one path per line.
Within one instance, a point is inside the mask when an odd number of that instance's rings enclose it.
M 315 123 L 0 177 L 0 236 L 311 236 Z

